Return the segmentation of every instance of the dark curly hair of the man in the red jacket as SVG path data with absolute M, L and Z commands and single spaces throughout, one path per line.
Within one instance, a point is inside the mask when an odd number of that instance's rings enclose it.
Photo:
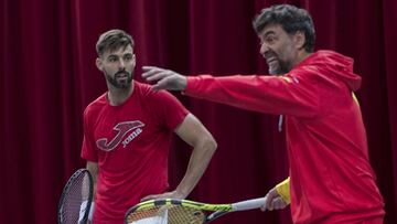
M 303 31 L 305 36 L 304 50 L 307 52 L 314 51 L 315 31 L 313 20 L 307 10 L 291 4 L 265 8 L 254 19 L 253 26 L 257 33 L 260 33 L 268 24 L 280 24 L 289 34 Z

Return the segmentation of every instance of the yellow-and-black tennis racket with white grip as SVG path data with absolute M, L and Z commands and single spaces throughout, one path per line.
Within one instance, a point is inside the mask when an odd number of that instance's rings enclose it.
M 229 212 L 258 209 L 265 204 L 265 200 L 266 198 L 259 198 L 233 204 L 205 204 L 175 199 L 150 200 L 129 209 L 125 224 L 210 223 Z

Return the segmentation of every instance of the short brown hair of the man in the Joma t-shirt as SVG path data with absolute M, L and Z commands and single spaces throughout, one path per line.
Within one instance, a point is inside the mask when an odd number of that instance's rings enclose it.
M 129 44 L 133 49 L 133 40 L 131 35 L 122 30 L 109 30 L 100 34 L 96 44 L 96 51 L 98 56 L 101 56 L 105 51 L 117 51 L 119 47 L 127 47 Z

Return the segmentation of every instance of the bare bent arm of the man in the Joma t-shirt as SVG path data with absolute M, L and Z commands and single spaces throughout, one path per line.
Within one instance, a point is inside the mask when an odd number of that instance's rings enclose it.
M 216 149 L 216 142 L 203 124 L 189 114 L 182 124 L 176 127 L 175 134 L 186 143 L 193 147 L 186 172 L 174 191 L 163 194 L 148 195 L 141 201 L 150 199 L 185 199 L 207 168 Z

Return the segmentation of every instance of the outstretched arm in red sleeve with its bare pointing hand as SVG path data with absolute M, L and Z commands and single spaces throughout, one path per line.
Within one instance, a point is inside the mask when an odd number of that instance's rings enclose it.
M 319 82 L 310 72 L 292 76 L 183 76 L 170 70 L 143 66 L 142 77 L 153 89 L 183 90 L 185 95 L 275 115 L 312 118 L 319 111 Z M 323 87 L 329 87 L 323 84 Z

